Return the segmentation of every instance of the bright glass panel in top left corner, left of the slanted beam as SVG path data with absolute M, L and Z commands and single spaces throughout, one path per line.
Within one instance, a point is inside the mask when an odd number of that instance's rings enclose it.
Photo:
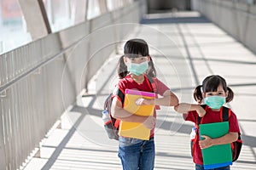
M 18 0 L 0 0 L 0 54 L 31 41 Z

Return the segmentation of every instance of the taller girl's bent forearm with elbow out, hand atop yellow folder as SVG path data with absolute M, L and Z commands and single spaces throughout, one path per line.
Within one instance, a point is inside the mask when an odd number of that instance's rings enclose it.
M 158 99 L 137 99 L 137 105 L 165 105 L 165 106 L 174 106 L 178 104 L 178 99 L 171 90 L 166 90 L 162 98 Z

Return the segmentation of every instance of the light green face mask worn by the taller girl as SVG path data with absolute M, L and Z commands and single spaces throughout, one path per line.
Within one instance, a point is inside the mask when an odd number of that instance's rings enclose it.
M 148 61 L 144 61 L 140 64 L 127 62 L 127 70 L 132 74 L 139 76 L 144 72 L 148 71 Z

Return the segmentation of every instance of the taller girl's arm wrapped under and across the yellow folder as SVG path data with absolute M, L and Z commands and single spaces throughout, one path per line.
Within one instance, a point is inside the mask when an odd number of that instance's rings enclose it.
M 154 116 L 137 116 L 122 108 L 122 103 L 116 98 L 113 98 L 111 106 L 112 116 L 116 119 L 126 122 L 141 122 L 148 129 L 154 128 Z

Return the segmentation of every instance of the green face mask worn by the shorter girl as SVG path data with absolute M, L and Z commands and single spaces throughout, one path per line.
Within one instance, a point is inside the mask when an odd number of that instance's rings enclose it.
M 223 96 L 211 96 L 204 99 L 204 103 L 212 109 L 219 109 L 224 105 L 226 98 Z

